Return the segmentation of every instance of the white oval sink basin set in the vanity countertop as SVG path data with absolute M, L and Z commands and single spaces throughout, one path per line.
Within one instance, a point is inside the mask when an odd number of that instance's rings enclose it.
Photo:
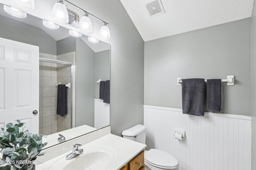
M 108 146 L 96 145 L 79 149 L 84 149 L 84 153 L 70 160 L 66 160 L 66 155 L 62 156 L 49 170 L 108 170 L 116 160 L 116 151 Z

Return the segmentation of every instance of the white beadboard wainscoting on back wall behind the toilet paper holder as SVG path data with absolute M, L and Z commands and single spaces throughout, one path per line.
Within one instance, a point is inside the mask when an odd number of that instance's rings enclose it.
M 144 106 L 147 150 L 164 150 L 182 170 L 251 170 L 251 117 L 224 113 L 187 115 L 182 109 Z M 186 131 L 174 139 L 174 128 Z

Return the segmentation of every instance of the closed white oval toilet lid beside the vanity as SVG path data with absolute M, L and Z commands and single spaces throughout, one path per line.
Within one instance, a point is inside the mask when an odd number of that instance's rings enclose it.
M 175 168 L 178 166 L 178 160 L 171 154 L 158 149 L 150 149 L 144 154 L 146 162 L 152 166 L 162 169 Z

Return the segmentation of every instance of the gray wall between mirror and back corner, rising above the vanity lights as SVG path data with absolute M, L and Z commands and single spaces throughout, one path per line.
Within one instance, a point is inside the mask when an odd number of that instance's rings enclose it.
M 110 23 L 110 126 L 112 134 L 121 135 L 124 129 L 143 124 L 144 41 L 119 0 L 72 2 Z M 91 35 L 97 37 L 99 29 L 94 26 Z

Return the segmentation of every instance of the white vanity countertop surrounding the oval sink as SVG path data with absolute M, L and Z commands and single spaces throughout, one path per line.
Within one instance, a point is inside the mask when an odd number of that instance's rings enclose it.
M 73 139 L 72 144 L 80 143 L 82 144 L 81 139 Z M 142 143 L 138 143 L 135 141 L 131 141 L 116 135 L 112 134 L 106 134 L 103 137 L 100 137 L 94 141 L 91 141 L 87 144 L 84 144 L 84 147 L 90 147 L 95 145 L 105 145 L 108 147 L 113 148 L 116 151 L 116 159 L 114 164 L 109 168 L 110 170 L 118 170 L 122 168 L 127 162 L 129 162 L 134 156 L 136 156 L 139 152 L 144 150 L 146 148 L 146 145 Z M 56 149 L 54 147 L 46 149 L 46 155 L 51 154 L 51 150 L 53 152 L 56 152 Z M 66 150 L 66 149 L 65 149 Z M 56 160 L 59 160 L 61 157 L 66 156 L 66 154 L 70 153 L 72 151 L 72 147 L 70 147 L 68 152 L 60 152 L 60 154 L 54 158 L 48 159 L 43 164 L 37 165 L 36 170 L 48 170 L 50 166 L 56 162 Z M 79 155 L 78 155 L 79 156 Z M 42 161 L 43 159 L 40 159 L 38 161 Z M 65 160 L 64 160 L 65 161 Z M 68 161 L 68 160 L 66 160 Z

